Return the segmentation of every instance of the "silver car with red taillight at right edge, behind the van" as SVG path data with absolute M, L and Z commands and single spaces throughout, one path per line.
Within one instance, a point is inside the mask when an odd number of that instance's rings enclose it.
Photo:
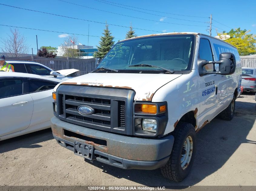
M 242 83 L 243 91 L 256 92 L 256 68 L 242 67 Z

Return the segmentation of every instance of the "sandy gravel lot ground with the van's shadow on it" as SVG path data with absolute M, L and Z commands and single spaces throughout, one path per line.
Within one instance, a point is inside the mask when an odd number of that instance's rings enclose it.
M 123 170 L 84 161 L 46 129 L 0 142 L 0 186 L 256 186 L 255 104 L 253 94 L 242 94 L 234 119 L 213 119 L 198 132 L 194 165 L 181 183 L 163 178 L 158 169 Z

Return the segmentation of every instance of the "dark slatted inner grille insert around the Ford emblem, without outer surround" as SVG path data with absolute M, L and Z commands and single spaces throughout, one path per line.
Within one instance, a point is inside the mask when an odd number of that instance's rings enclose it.
M 59 94 L 59 104 L 60 115 L 65 116 L 65 120 L 69 123 L 104 131 L 111 131 L 111 128 L 125 128 L 125 101 L 118 100 L 115 108 L 117 122 L 113 121 L 115 117 L 111 120 L 111 99 Z M 88 116 L 82 115 L 78 111 L 78 107 L 82 105 L 93 108 L 94 113 Z M 115 105 L 113 104 L 112 107 Z

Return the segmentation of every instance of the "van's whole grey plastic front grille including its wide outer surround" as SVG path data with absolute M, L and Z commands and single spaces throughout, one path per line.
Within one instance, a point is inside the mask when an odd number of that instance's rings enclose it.
M 90 129 L 133 135 L 135 91 L 62 84 L 56 94 L 58 119 Z M 82 106 L 91 107 L 92 113 L 85 115 L 90 110 L 86 107 L 79 111 Z

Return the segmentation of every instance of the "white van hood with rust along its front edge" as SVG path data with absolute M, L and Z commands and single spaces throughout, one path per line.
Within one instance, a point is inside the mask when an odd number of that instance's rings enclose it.
M 71 78 L 58 84 L 74 84 L 85 86 L 99 86 L 109 88 L 132 89 L 136 92 L 134 100 L 151 101 L 155 92 L 181 76 L 180 74 L 116 74 L 116 73 L 89 73 Z

